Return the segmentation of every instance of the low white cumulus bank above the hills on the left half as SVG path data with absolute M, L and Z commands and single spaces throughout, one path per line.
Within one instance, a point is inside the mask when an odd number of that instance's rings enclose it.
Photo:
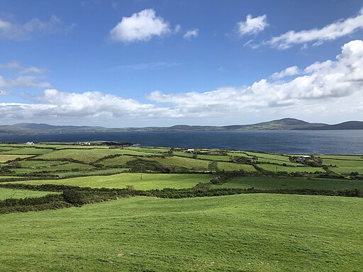
M 0 118 L 177 118 L 179 111 L 98 91 L 83 94 L 47 89 L 33 103 L 0 103 Z

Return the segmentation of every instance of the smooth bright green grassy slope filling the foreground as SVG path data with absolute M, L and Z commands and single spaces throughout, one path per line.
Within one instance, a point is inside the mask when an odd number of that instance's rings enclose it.
M 136 197 L 0 215 L 0 271 L 360 271 L 362 205 L 269 194 Z

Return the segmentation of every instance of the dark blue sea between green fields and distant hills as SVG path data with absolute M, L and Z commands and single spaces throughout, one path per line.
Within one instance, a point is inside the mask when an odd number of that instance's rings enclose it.
M 125 141 L 147 147 L 256 150 L 285 154 L 363 154 L 363 130 L 95 132 L 0 135 L 0 142 Z

